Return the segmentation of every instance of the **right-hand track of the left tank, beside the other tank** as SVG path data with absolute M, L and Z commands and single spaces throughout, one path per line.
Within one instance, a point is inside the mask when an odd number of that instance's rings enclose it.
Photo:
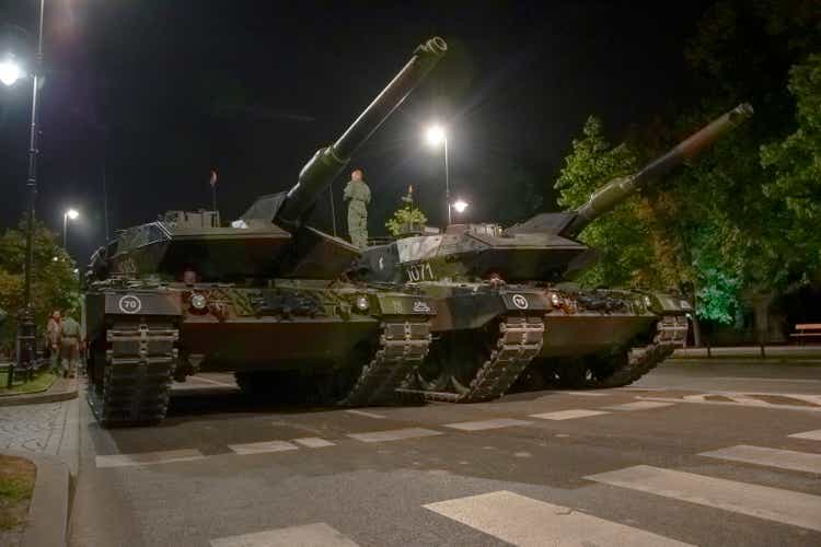
M 362 368 L 342 406 L 367 406 L 395 401 L 406 377 L 416 372 L 430 349 L 430 322 L 385 321 L 373 359 Z

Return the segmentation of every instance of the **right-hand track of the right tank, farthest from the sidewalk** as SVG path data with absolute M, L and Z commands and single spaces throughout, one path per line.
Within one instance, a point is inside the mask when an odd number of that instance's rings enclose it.
M 592 383 L 590 387 L 622 387 L 632 384 L 670 357 L 675 348 L 682 347 L 686 341 L 686 317 L 662 316 L 656 324 L 656 335 L 651 344 L 638 351 L 631 351 L 624 365 L 606 379 Z

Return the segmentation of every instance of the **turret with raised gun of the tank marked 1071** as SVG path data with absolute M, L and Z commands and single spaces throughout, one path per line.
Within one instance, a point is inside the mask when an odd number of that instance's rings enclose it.
M 576 236 L 641 188 L 695 158 L 752 116 L 741 104 L 686 138 L 639 172 L 609 182 L 575 211 L 541 213 L 499 231 L 496 224 L 453 225 L 440 235 L 405 237 L 365 252 L 355 271 L 378 281 L 560 281 L 595 253 Z

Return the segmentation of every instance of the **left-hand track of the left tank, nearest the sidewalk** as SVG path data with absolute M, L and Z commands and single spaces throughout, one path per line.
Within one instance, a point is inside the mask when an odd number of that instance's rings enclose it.
M 89 403 L 103 427 L 157 423 L 169 409 L 180 331 L 171 323 L 115 323 L 106 334 L 103 389 Z

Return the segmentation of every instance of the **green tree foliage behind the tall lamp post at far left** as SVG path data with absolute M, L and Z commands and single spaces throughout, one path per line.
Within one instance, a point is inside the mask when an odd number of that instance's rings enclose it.
M 53 310 L 79 311 L 79 283 L 74 263 L 57 243 L 57 235 L 35 223 L 32 300 L 38 328 Z M 0 236 L 0 307 L 9 314 L 0 338 L 13 339 L 15 314 L 24 302 L 25 231 L 9 229 Z

